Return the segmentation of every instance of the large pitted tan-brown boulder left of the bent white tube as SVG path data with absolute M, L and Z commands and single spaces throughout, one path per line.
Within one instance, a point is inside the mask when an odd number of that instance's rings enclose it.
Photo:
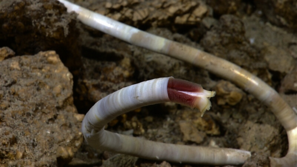
M 16 56 L 0 62 L 0 71 L 0 164 L 69 162 L 83 137 L 75 117 L 72 74 L 59 56 L 55 51 Z

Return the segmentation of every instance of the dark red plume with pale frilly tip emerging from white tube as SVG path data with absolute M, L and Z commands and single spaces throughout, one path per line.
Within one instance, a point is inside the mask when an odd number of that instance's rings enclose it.
M 167 85 L 167 93 L 170 101 L 198 108 L 201 116 L 211 107 L 210 97 L 214 97 L 215 91 L 207 91 L 201 85 L 181 79 L 170 78 Z

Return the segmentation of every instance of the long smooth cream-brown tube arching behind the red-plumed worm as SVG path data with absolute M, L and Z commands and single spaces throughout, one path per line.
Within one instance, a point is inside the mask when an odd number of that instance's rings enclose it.
M 254 95 L 271 108 L 288 135 L 289 150 L 287 155 L 282 158 L 270 157 L 271 166 L 297 166 L 297 115 L 279 94 L 260 78 L 257 78 L 236 64 L 196 48 L 140 31 L 70 2 L 59 1 L 67 7 L 68 12 L 74 11 L 78 13 L 78 19 L 88 26 L 133 45 L 195 64 L 198 67 L 232 81 L 245 91 Z

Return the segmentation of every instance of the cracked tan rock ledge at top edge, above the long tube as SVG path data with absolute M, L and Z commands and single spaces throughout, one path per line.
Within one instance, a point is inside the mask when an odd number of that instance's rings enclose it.
M 97 13 L 117 21 L 135 26 L 171 26 L 183 25 L 183 28 L 197 25 L 212 11 L 203 1 L 101 1 L 77 2 Z

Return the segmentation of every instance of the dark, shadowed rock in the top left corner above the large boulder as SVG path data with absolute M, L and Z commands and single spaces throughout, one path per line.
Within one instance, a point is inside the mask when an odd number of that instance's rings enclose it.
M 0 46 L 16 55 L 55 50 L 72 72 L 81 63 L 76 16 L 55 0 L 0 1 Z

